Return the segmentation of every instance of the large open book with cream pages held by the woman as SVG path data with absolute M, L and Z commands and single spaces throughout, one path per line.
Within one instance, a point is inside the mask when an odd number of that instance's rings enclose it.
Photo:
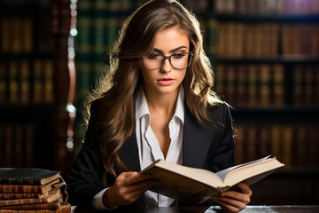
M 195 205 L 220 195 L 231 187 L 236 190 L 238 183 L 252 185 L 284 166 L 276 158 L 269 156 L 217 173 L 158 160 L 141 173 L 151 176 L 158 182 L 150 189 L 152 192 Z

